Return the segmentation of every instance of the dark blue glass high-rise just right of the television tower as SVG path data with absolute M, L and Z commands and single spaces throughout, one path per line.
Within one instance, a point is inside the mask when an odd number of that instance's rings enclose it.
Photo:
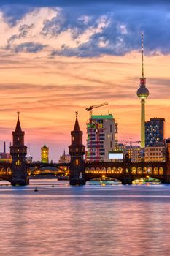
M 150 118 L 145 122 L 145 146 L 156 146 L 163 143 L 165 137 L 165 119 Z

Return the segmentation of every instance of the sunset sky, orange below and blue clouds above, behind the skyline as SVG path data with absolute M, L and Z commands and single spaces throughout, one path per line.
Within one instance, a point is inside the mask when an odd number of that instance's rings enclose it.
M 68 152 L 75 111 L 86 144 L 93 114 L 112 113 L 118 139 L 140 140 L 141 33 L 150 96 L 146 121 L 166 119 L 170 137 L 169 1 L 16 0 L 0 2 L 0 151 L 20 111 L 28 154 Z

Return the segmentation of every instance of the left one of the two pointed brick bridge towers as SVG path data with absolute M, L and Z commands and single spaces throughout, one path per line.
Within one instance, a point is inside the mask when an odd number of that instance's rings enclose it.
M 12 132 L 13 143 L 10 146 L 10 154 L 12 156 L 12 181 L 13 186 L 27 185 L 27 173 L 26 173 L 26 154 L 27 147 L 24 146 L 24 135 L 20 127 L 20 113 L 18 112 L 18 121 L 15 128 L 15 132 Z

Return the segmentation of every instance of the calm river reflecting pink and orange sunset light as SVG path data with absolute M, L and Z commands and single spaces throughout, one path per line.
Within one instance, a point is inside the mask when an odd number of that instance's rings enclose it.
M 31 180 L 0 186 L 0 207 L 0 255 L 170 255 L 170 185 Z

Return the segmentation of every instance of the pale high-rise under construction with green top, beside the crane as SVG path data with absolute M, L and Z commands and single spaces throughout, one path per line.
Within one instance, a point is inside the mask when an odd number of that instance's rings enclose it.
M 87 124 L 86 161 L 109 162 L 109 151 L 115 150 L 115 118 L 112 114 L 91 116 Z

